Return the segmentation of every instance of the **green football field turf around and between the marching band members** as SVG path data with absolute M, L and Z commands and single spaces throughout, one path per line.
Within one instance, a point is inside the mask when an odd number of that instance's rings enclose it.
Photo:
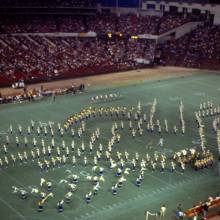
M 91 97 L 110 93 L 121 94 L 120 99 L 109 100 L 107 102 L 92 103 Z M 99 144 L 103 145 L 103 155 L 107 149 L 111 138 L 111 128 L 113 123 L 124 122 L 124 129 L 119 128 L 121 139 L 115 143 L 112 156 L 116 157 L 116 152 L 127 151 L 130 158 L 135 153 L 139 153 L 140 160 L 145 158 L 146 153 L 153 157 L 154 153 L 166 155 L 169 158 L 174 152 L 182 149 L 200 149 L 200 137 L 198 126 L 195 121 L 194 112 L 199 110 L 200 103 L 213 102 L 214 107 L 220 106 L 220 77 L 217 74 L 207 72 L 196 76 L 173 77 L 165 80 L 142 81 L 139 83 L 121 84 L 116 86 L 94 86 L 86 89 L 84 93 L 77 95 L 57 96 L 53 102 L 51 98 L 44 100 L 7 104 L 0 106 L 0 158 L 5 156 L 9 159 L 9 165 L 0 169 L 0 219 L 1 220 L 141 220 L 145 219 L 145 211 L 156 213 L 164 204 L 167 213 L 163 219 L 176 219 L 175 211 L 179 203 L 186 210 L 199 201 L 204 201 L 208 196 L 215 196 L 220 192 L 220 177 L 217 172 L 218 147 L 216 133 L 213 132 L 213 120 L 220 115 L 208 116 L 203 119 L 205 125 L 205 146 L 215 157 L 214 166 L 209 169 L 195 171 L 190 165 L 186 165 L 184 173 L 177 166 L 175 172 L 170 172 L 170 164 L 167 162 L 165 171 L 160 168 L 152 171 L 150 166 L 146 168 L 144 180 L 140 187 L 135 185 L 139 175 L 139 170 L 129 171 L 125 176 L 126 182 L 118 189 L 117 195 L 112 195 L 111 187 L 117 182 L 116 168 L 109 169 L 109 162 L 101 158 L 98 162 L 104 168 L 104 181 L 100 182 L 98 194 L 92 196 L 91 202 L 85 202 L 85 195 L 91 191 L 93 185 L 87 176 L 94 176 L 92 171 L 93 157 Z M 157 100 L 154 122 L 160 120 L 164 138 L 163 147 L 158 146 L 160 134 L 157 129 L 154 132 L 147 131 L 147 123 L 143 122 L 143 135 L 132 137 L 129 130 L 129 122 L 122 116 L 103 116 L 90 118 L 85 121 L 85 133 L 81 138 L 77 136 L 79 124 L 73 125 L 75 136 L 71 136 L 70 129 L 64 132 L 63 138 L 57 131 L 57 124 L 63 124 L 72 114 L 80 112 L 90 106 L 100 107 L 137 107 L 141 103 L 141 112 L 146 114 L 149 120 L 150 109 L 154 99 Z M 180 128 L 179 105 L 182 100 L 184 105 L 183 116 L 186 124 L 186 131 L 183 135 Z M 167 120 L 169 132 L 164 130 L 164 120 Z M 35 122 L 35 128 L 28 135 L 27 127 L 30 121 Z M 69 146 L 70 156 L 65 165 L 60 165 L 48 171 L 41 171 L 38 167 L 37 159 L 31 160 L 31 150 L 35 150 L 32 144 L 33 137 L 37 140 L 37 147 L 41 150 L 42 139 L 45 146 L 51 144 L 51 135 L 44 132 L 37 135 L 36 127 L 42 123 L 43 127 L 51 124 L 54 128 L 54 139 L 56 147 L 59 146 L 61 154 L 62 140 Z M 133 124 L 136 122 L 133 121 Z M 10 134 L 9 127 L 12 125 L 13 133 Z M 22 126 L 22 135 L 18 132 L 18 125 Z M 136 124 L 135 124 L 136 126 Z M 177 126 L 177 134 L 173 133 L 173 126 Z M 93 152 L 89 152 L 89 141 L 95 130 L 100 129 L 100 138 L 96 141 Z M 6 136 L 9 137 L 8 152 L 5 154 L 3 145 Z M 15 137 L 19 137 L 20 146 L 17 147 Z M 24 146 L 24 137 L 27 137 L 27 147 Z M 75 151 L 71 151 L 71 142 L 75 141 Z M 85 152 L 81 158 L 77 159 L 75 166 L 72 165 L 72 156 L 77 155 L 77 148 L 81 143 L 85 143 Z M 18 152 L 26 152 L 28 161 L 20 163 L 19 159 L 12 165 L 10 154 L 17 155 Z M 55 149 L 52 156 L 55 156 Z M 88 164 L 84 165 L 84 157 L 87 157 Z M 48 156 L 41 153 L 40 160 L 49 160 Z M 126 162 L 126 166 L 130 166 Z M 71 202 L 64 204 L 64 211 L 58 213 L 56 204 L 62 200 L 68 192 L 67 184 L 61 180 L 66 180 L 68 174 L 79 176 L 77 189 L 73 192 Z M 48 198 L 44 203 L 44 211 L 38 212 L 39 198 L 31 194 L 31 188 L 37 187 L 40 191 L 47 192 L 46 188 L 40 187 L 40 180 L 44 178 L 52 182 L 53 197 Z M 13 193 L 12 186 L 25 189 L 28 192 L 27 199 L 21 199 L 18 194 Z M 154 217 L 149 217 L 149 220 Z

